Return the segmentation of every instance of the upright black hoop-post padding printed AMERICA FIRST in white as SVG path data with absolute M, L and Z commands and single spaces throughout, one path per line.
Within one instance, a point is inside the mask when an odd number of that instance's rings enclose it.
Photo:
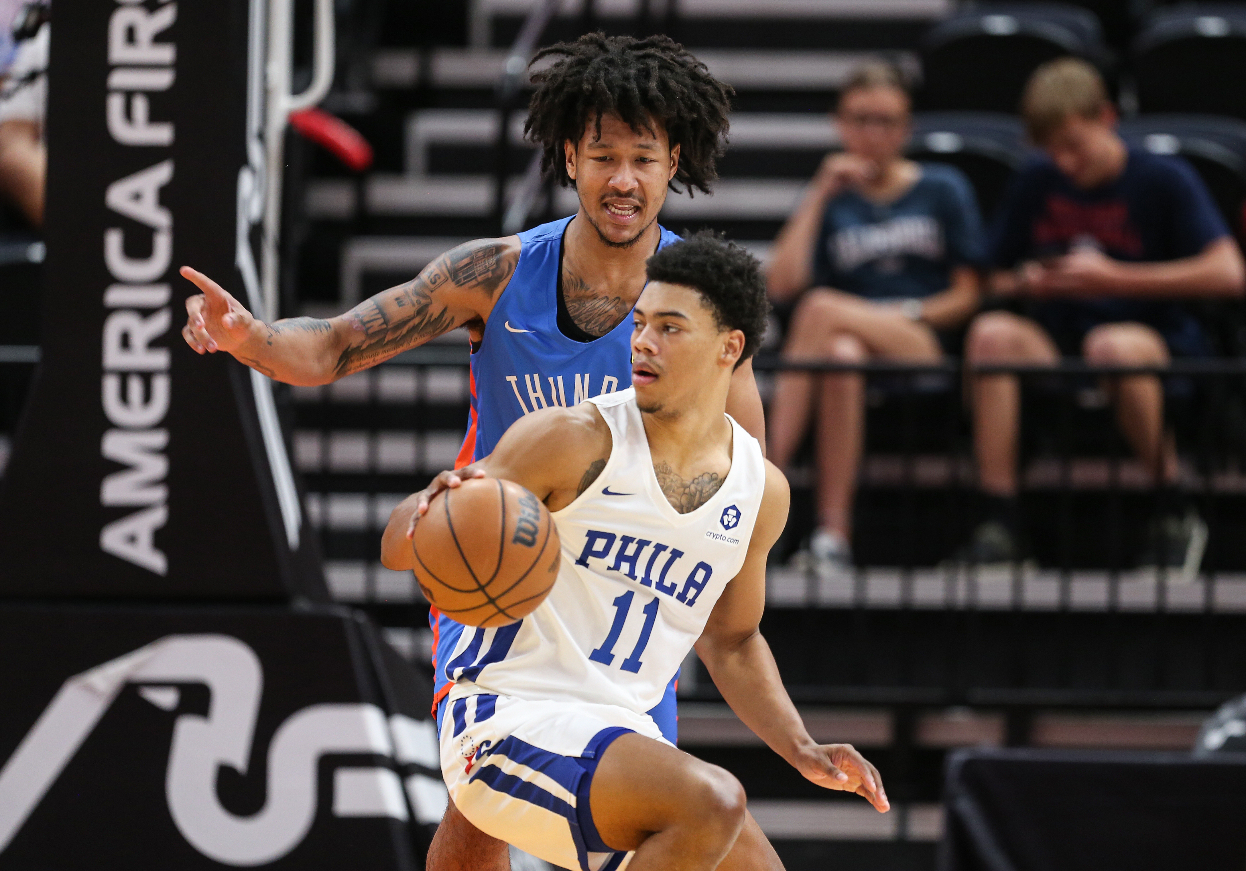
M 0 492 L 0 596 L 324 597 L 270 384 L 179 335 L 178 265 L 258 295 L 255 15 L 57 0 L 44 359 Z

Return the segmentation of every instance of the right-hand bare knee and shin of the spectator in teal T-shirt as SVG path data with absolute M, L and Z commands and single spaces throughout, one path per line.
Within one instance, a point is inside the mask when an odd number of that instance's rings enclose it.
M 840 333 L 830 339 L 832 360 L 863 363 L 865 344 L 855 335 Z M 817 407 L 817 513 L 824 528 L 850 540 L 852 535 L 852 495 L 856 470 L 861 461 L 865 430 L 865 378 L 856 374 L 826 375 L 819 390 Z

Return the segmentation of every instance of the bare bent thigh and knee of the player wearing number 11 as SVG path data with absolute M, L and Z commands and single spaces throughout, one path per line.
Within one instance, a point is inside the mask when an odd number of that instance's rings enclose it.
M 730 773 L 638 734 L 602 755 L 589 792 L 593 824 L 612 850 L 635 850 L 673 826 L 735 830 L 744 789 Z

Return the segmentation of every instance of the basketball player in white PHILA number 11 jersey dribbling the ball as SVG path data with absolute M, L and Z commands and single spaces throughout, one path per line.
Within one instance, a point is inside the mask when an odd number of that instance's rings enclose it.
M 758 262 L 709 234 L 648 262 L 630 390 L 517 421 L 496 450 L 395 510 L 383 562 L 411 568 L 429 495 L 488 475 L 552 512 L 563 563 L 508 627 L 464 632 L 439 723 L 442 775 L 475 826 L 564 869 L 781 869 L 740 784 L 645 714 L 695 645 L 739 718 L 805 778 L 888 802 L 875 768 L 819 745 L 758 627 L 787 483 L 725 414 L 769 308 Z

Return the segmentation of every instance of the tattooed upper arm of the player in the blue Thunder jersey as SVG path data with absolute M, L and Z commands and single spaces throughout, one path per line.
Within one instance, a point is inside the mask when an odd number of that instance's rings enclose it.
M 515 273 L 518 244 L 480 239 L 446 252 L 414 280 L 368 299 L 340 320 L 345 340 L 333 376 L 390 359 L 483 317 Z

